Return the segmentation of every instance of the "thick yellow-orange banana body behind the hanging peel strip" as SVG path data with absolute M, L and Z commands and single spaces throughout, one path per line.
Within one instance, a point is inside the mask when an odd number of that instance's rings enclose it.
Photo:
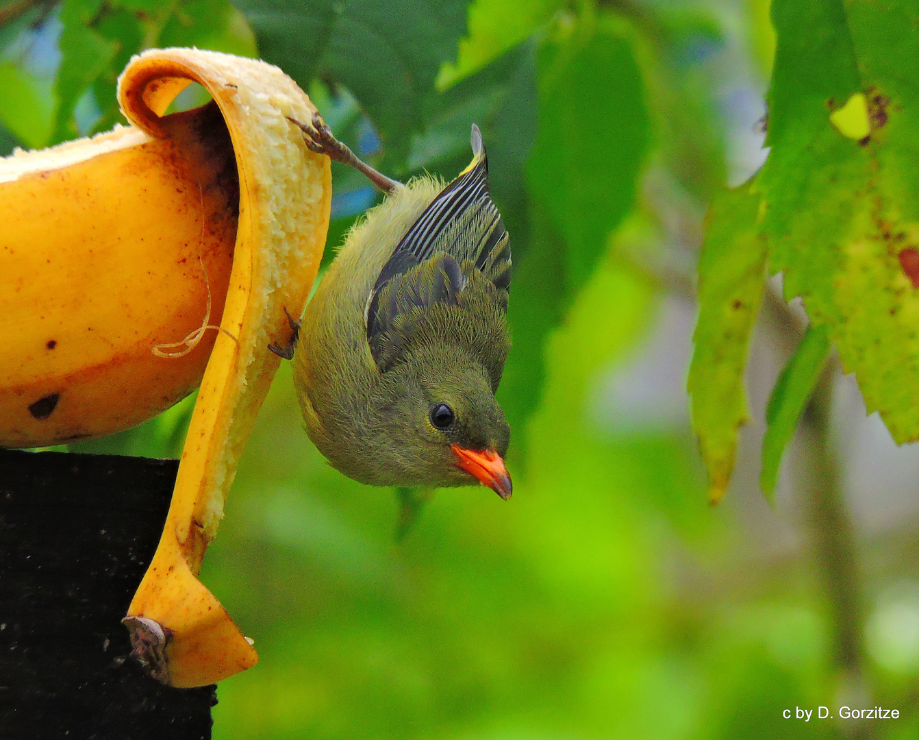
M 239 193 L 216 107 L 0 160 L 0 444 L 140 424 L 198 387 L 214 333 L 166 360 L 233 268 Z

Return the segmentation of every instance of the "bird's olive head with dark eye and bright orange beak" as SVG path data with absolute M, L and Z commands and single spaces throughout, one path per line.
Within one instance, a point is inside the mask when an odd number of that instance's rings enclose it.
M 510 427 L 481 363 L 461 351 L 422 347 L 386 375 L 392 393 L 381 431 L 403 479 L 431 486 L 478 480 L 510 497 Z

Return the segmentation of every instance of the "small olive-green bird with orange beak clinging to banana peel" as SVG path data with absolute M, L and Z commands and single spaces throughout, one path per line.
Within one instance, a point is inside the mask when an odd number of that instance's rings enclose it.
M 511 495 L 510 427 L 494 393 L 510 348 L 511 251 L 472 126 L 471 164 L 444 185 L 408 185 L 364 164 L 317 116 L 314 152 L 357 167 L 388 193 L 346 237 L 306 308 L 290 319 L 304 351 L 294 383 L 312 442 L 364 484 L 470 485 Z

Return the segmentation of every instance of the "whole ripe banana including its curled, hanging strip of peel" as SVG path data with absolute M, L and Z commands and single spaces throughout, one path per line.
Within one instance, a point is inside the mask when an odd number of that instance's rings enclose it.
M 210 108 L 164 116 L 192 82 Z M 119 103 L 130 128 L 0 162 L 15 222 L 0 223 L 0 249 L 19 259 L 0 270 L 0 327 L 39 316 L 0 350 L 0 444 L 118 431 L 200 383 L 165 529 L 124 620 L 154 677 L 194 687 L 258 659 L 196 576 L 278 369 L 267 345 L 288 343 L 285 309 L 302 313 L 319 268 L 331 173 L 288 120 L 311 120 L 312 103 L 267 63 L 145 51 L 121 74 Z M 29 203 L 45 211 L 20 217 Z M 202 334 L 202 319 L 220 332 Z M 153 355 L 183 336 L 198 345 Z

